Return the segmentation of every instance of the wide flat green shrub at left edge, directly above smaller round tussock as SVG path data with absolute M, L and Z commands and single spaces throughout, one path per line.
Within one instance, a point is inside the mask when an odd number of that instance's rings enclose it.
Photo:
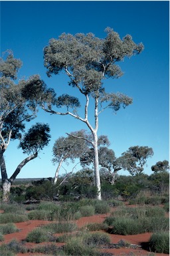
M 28 221 L 27 215 L 21 215 L 17 213 L 1 213 L 0 223 L 17 223 Z

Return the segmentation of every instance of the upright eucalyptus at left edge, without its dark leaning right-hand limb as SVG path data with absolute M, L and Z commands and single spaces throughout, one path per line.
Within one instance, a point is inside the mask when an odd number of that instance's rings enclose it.
M 11 182 L 7 179 L 4 153 L 11 140 L 21 139 L 25 122 L 36 117 L 37 106 L 43 100 L 41 95 L 46 94 L 48 98 L 48 90 L 44 93 L 45 85 L 38 75 L 27 80 L 17 78 L 21 66 L 22 62 L 15 59 L 10 51 L 6 58 L 0 59 L 0 166 L 4 191 L 8 190 L 8 184 L 11 188 Z

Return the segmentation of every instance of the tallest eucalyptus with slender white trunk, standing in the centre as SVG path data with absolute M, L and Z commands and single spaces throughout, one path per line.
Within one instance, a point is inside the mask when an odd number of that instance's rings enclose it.
M 75 96 L 62 94 L 51 104 L 42 108 L 51 114 L 70 115 L 84 122 L 92 133 L 91 145 L 94 148 L 94 170 L 98 199 L 101 197 L 100 172 L 98 162 L 98 126 L 99 115 L 111 108 L 118 111 L 132 103 L 132 99 L 120 92 L 106 92 L 104 80 L 119 78 L 123 72 L 117 63 L 141 53 L 143 45 L 135 44 L 130 35 L 120 39 L 118 33 L 106 29 L 106 38 L 100 39 L 92 33 L 70 35 L 63 33 L 58 39 L 51 39 L 44 48 L 44 66 L 47 75 L 59 74 L 64 71 L 69 78 L 68 84 L 84 97 L 84 114 L 78 113 L 80 100 Z M 90 105 L 90 102 L 94 104 Z M 93 110 L 92 107 L 94 106 Z M 62 112 L 58 108 L 64 108 Z M 94 122 L 90 121 L 89 112 L 94 114 Z

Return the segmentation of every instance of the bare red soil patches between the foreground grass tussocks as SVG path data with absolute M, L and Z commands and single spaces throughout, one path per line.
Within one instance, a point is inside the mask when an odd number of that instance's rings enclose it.
M 132 206 L 132 207 L 134 207 L 134 206 Z M 114 208 L 114 209 L 116 209 L 116 208 Z M 86 225 L 88 223 L 102 223 L 107 216 L 108 216 L 108 214 L 94 215 L 94 216 L 90 216 L 90 217 L 81 217 L 80 219 L 78 219 L 74 222 L 78 225 L 78 227 L 86 228 Z M 17 228 L 21 229 L 21 230 L 17 233 L 4 235 L 5 241 L 3 241 L 3 243 L 9 243 L 9 241 L 11 241 L 12 239 L 17 239 L 18 241 L 23 241 L 27 237 L 27 234 L 29 232 L 31 232 L 33 229 L 35 229 L 35 227 L 39 227 L 41 225 L 45 225 L 50 222 L 51 221 L 31 220 L 31 221 L 27 221 L 24 223 L 15 223 Z M 112 255 L 116 255 L 116 256 L 118 256 L 118 255 L 119 256 L 128 256 L 128 255 L 130 255 L 130 253 L 134 253 L 135 255 L 139 255 L 139 256 L 144 256 L 144 255 L 147 256 L 150 254 L 148 251 L 145 251 L 144 249 L 142 249 L 140 247 L 140 244 L 142 242 L 148 242 L 151 237 L 151 233 L 143 233 L 143 234 L 139 234 L 139 235 L 114 235 L 114 234 L 109 234 L 109 235 L 110 235 L 111 243 L 118 243 L 118 241 L 124 240 L 130 244 L 138 245 L 138 246 L 136 247 L 136 249 L 125 248 L 125 247 L 122 247 L 120 249 L 108 249 L 108 248 L 101 249 L 101 251 L 103 251 L 103 252 L 112 253 Z M 41 244 L 46 244 L 46 243 L 41 243 Z M 39 245 L 41 245 L 41 244 L 39 244 Z M 25 243 L 25 245 L 29 248 L 37 246 L 37 244 L 35 244 L 35 243 Z M 58 247 L 60 247 L 61 245 L 63 245 L 63 243 L 56 243 L 56 245 L 58 245 Z M 31 255 L 33 255 L 33 254 L 31 254 L 31 253 L 18 253 L 17 254 L 17 256 L 31 256 Z M 42 255 L 42 254 L 34 253 L 34 255 Z M 155 256 L 168 256 L 168 255 L 169 254 L 155 253 Z

